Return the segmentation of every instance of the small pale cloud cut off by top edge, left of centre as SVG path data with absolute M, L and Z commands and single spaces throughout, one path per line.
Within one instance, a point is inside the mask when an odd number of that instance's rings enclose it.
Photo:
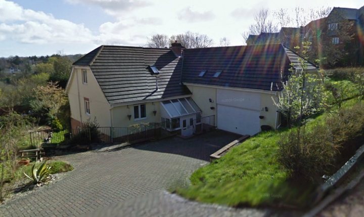
M 153 5 L 143 0 L 67 0 L 70 4 L 95 5 L 102 8 L 112 16 L 119 16 L 120 12 L 129 12 L 134 9 Z

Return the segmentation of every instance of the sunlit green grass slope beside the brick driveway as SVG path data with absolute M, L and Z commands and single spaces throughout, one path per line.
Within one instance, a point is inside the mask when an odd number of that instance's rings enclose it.
M 350 100 L 344 106 L 351 106 Z M 311 126 L 324 121 L 322 114 L 307 122 Z M 191 186 L 176 192 L 189 199 L 230 206 L 283 205 L 303 207 L 312 201 L 315 186 L 290 181 L 290 171 L 276 159 L 279 138 L 292 129 L 263 132 L 234 147 L 212 163 L 196 170 Z

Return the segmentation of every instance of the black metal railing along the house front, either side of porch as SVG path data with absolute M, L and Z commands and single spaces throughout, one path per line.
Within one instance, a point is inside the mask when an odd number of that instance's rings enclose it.
M 168 127 L 166 128 L 166 126 Z M 90 143 L 124 143 L 158 139 L 168 135 L 175 135 L 179 131 L 171 129 L 171 124 L 142 123 L 127 127 L 92 127 L 77 128 L 71 131 L 55 132 L 53 129 L 30 132 L 32 146 L 65 144 L 90 144 Z M 210 131 L 215 128 L 215 115 L 201 117 L 194 120 L 194 134 Z

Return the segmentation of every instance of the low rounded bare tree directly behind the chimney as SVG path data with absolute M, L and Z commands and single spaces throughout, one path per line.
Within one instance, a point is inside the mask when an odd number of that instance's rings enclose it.
M 187 31 L 183 34 L 172 35 L 170 41 L 179 41 L 185 48 L 208 48 L 213 46 L 213 40 L 206 34 Z

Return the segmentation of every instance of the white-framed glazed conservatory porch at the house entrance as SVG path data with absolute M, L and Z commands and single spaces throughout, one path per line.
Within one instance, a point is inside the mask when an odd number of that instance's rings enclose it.
M 161 103 L 162 127 L 167 131 L 180 129 L 182 136 L 191 136 L 201 124 L 201 109 L 191 97 L 165 100 Z

